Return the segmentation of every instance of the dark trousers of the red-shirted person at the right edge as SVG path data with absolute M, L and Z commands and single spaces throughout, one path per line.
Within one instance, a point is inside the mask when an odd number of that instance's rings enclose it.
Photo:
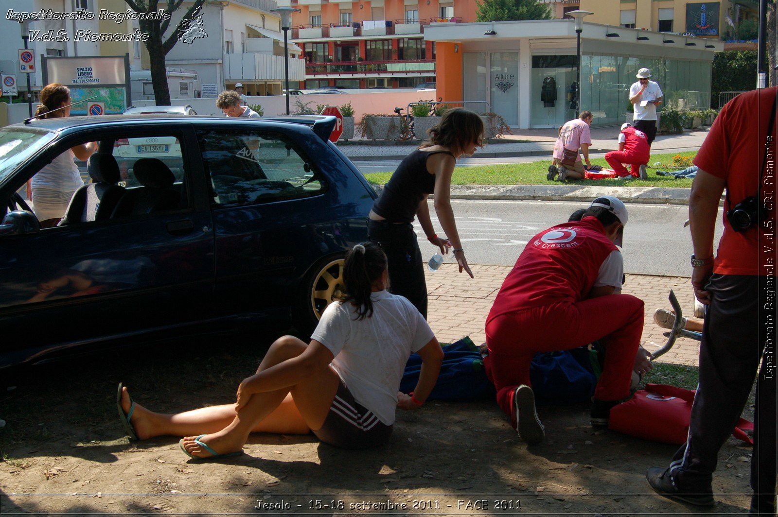
M 761 361 L 756 384 L 751 486 L 761 494 L 760 500 L 775 498 L 776 320 L 775 309 L 767 311 L 764 307 L 764 295 L 762 304 L 759 302 L 759 281 L 756 276 L 714 274 L 707 286 L 711 303 L 699 351 L 699 386 L 692 405 L 689 438 L 671 463 L 672 478 L 681 491 L 710 493 L 718 452 L 748 401 Z M 768 327 L 773 327 L 773 334 L 766 347 Z

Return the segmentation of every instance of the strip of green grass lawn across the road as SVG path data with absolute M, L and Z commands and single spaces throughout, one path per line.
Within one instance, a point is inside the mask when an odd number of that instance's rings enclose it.
M 666 153 L 651 155 L 648 166 L 648 180 L 569 180 L 571 185 L 585 185 L 596 181 L 598 184 L 608 187 L 691 187 L 692 180 L 675 180 L 672 176 L 657 176 L 652 164 L 661 162 L 664 165 L 673 162 L 673 156 L 678 153 Z M 696 152 L 683 153 L 683 156 L 694 156 Z M 478 156 L 478 153 L 476 153 Z M 593 159 L 592 165 L 601 165 L 608 168 L 605 159 Z M 455 185 L 560 185 L 559 181 L 548 181 L 545 175 L 551 159 L 530 163 L 510 163 L 500 165 L 483 165 L 472 167 L 457 167 L 451 183 Z M 675 170 L 673 167 L 660 170 Z M 365 174 L 366 179 L 374 185 L 386 183 L 393 171 L 386 173 Z

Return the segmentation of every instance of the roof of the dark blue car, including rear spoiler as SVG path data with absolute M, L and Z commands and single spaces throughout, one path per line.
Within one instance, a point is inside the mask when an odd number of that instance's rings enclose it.
M 331 120 L 328 120 L 331 119 Z M 310 117 L 289 117 L 288 119 L 249 119 L 223 117 L 220 115 L 183 115 L 183 114 L 153 114 L 153 115 L 101 115 L 100 117 L 54 117 L 46 118 L 42 121 L 30 121 L 28 124 L 20 122 L 6 126 L 5 128 L 40 128 L 49 131 L 70 132 L 79 129 L 88 129 L 94 127 L 140 127 L 149 124 L 169 124 L 171 122 L 180 122 L 182 124 L 199 125 L 224 125 L 234 124 L 252 124 L 260 128 L 278 128 L 283 124 L 285 128 L 291 131 L 301 131 L 303 126 L 313 129 L 323 140 L 329 138 L 332 128 L 325 128 L 329 123 L 334 128 L 335 117 L 328 116 L 310 116 Z M 315 126 L 315 127 L 314 127 Z

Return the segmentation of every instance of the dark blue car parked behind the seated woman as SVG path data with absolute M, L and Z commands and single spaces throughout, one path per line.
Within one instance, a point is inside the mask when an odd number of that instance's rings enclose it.
M 0 368 L 244 322 L 310 332 L 376 196 L 328 141 L 334 124 L 159 115 L 0 129 Z M 91 141 L 91 181 L 41 228 L 28 182 Z

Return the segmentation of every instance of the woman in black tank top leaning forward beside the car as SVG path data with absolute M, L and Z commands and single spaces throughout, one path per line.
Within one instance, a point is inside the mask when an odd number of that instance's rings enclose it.
M 422 252 L 413 231 L 413 219 L 429 243 L 445 255 L 454 248 L 459 272 L 473 273 L 464 258 L 451 208 L 451 175 L 456 159 L 470 156 L 482 145 L 484 124 L 478 114 L 462 108 L 448 110 L 440 124 L 429 130 L 429 140 L 405 157 L 373 204 L 367 220 L 370 240 L 380 243 L 387 254 L 389 291 L 405 296 L 427 317 L 427 286 Z M 446 237 L 435 234 L 429 218 L 427 196 L 435 194 L 435 213 Z

